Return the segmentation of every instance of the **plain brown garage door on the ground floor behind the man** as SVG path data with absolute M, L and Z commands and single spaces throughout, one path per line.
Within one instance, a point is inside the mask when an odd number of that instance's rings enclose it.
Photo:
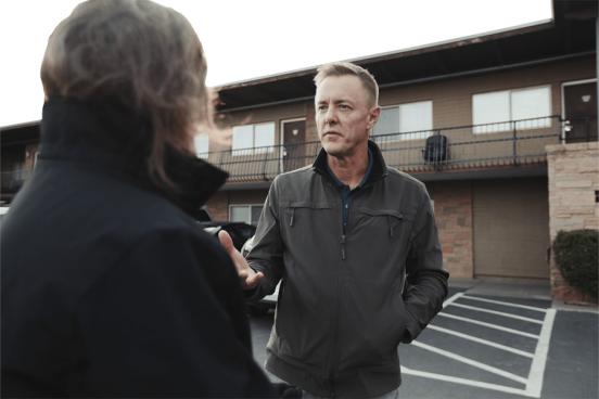
M 549 279 L 547 179 L 473 182 L 474 274 Z

